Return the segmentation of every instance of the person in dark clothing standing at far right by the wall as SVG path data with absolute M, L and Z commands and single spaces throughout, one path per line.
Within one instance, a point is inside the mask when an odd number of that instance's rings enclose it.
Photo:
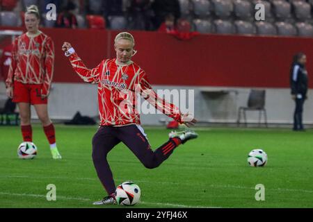
M 307 99 L 307 70 L 305 63 L 307 56 L 304 53 L 297 53 L 294 55 L 294 61 L 291 65 L 290 71 L 290 85 L 291 96 L 296 101 L 296 108 L 294 110 L 294 128 L 295 131 L 303 131 L 303 105 Z

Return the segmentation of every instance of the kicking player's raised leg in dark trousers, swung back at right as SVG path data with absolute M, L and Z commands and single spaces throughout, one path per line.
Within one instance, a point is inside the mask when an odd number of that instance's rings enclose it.
M 128 146 L 131 151 L 138 157 L 138 159 L 143 163 L 148 169 L 154 169 L 159 167 L 159 165 L 170 157 L 175 148 L 186 142 L 188 139 L 193 139 L 193 137 L 179 137 L 175 135 L 169 138 L 168 142 L 161 145 L 155 151 L 152 151 L 147 137 L 143 132 L 143 128 L 138 125 L 129 125 L 118 128 L 117 137 Z

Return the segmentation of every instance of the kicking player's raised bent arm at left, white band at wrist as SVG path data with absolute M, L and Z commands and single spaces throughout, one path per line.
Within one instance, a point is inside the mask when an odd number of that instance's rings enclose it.
M 64 42 L 62 45 L 62 50 L 65 52 L 65 56 L 70 58 L 71 65 L 74 71 L 81 77 L 86 83 L 99 83 L 99 71 L 102 62 L 93 69 L 88 69 L 77 53 L 75 53 L 74 48 L 70 42 Z

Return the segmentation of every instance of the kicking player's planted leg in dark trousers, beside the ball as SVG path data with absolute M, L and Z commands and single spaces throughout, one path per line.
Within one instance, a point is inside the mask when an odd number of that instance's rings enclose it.
M 115 204 L 115 183 L 109 162 L 106 160 L 106 155 L 120 143 L 120 140 L 113 135 L 114 130 L 116 129 L 112 126 L 102 126 L 93 137 L 93 164 L 99 180 L 109 195 L 96 201 L 94 205 Z

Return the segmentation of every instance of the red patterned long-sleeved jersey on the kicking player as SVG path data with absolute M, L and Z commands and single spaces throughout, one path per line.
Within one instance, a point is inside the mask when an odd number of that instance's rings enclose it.
M 157 96 L 145 71 L 134 62 L 129 61 L 127 65 L 121 65 L 116 59 L 106 59 L 94 69 L 88 69 L 77 53 L 72 53 L 70 62 L 74 71 L 85 82 L 98 84 L 101 126 L 140 124 L 140 116 L 135 105 L 138 93 L 154 108 L 182 123 L 179 109 Z

